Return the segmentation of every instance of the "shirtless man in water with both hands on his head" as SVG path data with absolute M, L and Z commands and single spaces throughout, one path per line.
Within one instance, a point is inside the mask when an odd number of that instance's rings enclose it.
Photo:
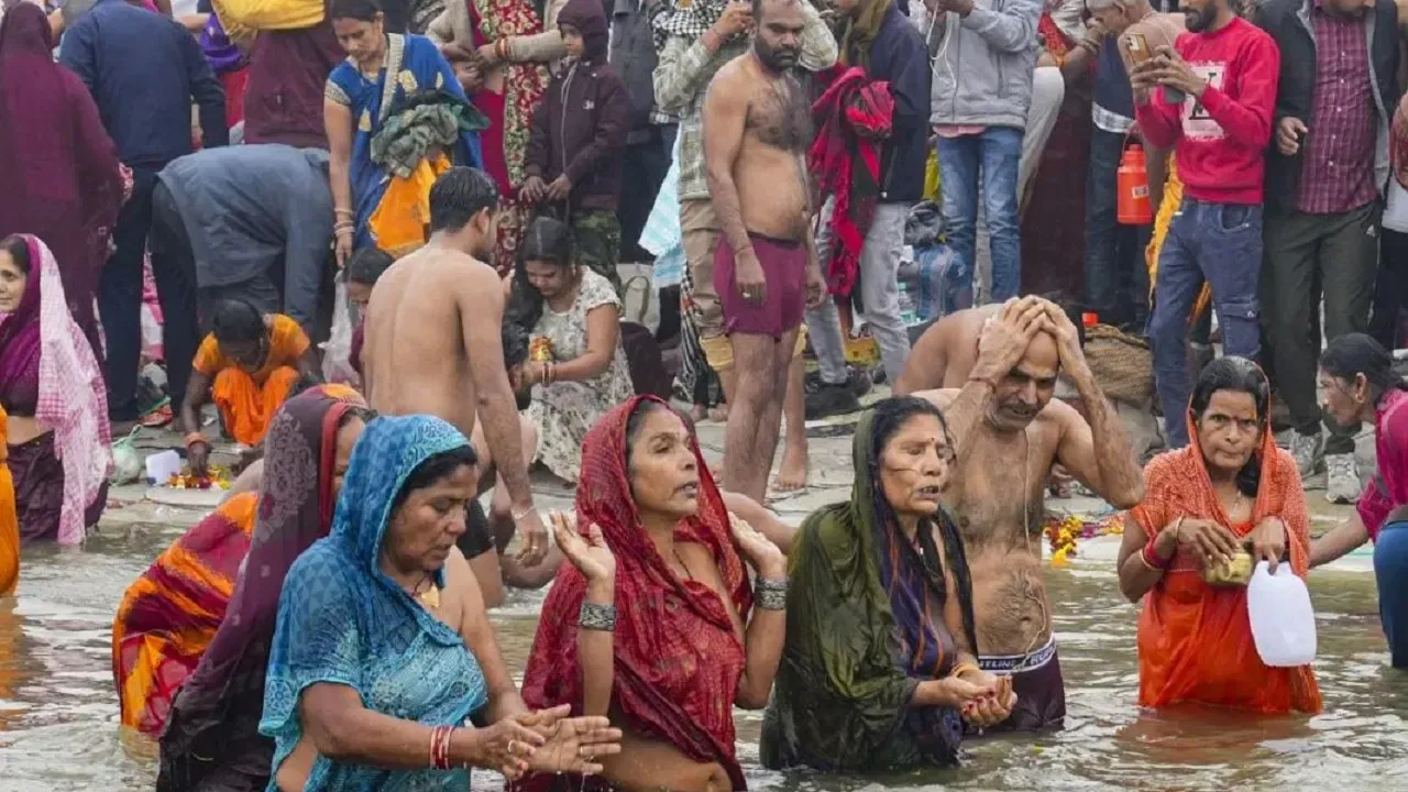
M 1053 402 L 1063 372 L 1090 413 Z M 960 390 L 915 396 L 938 404 L 957 445 L 945 492 L 967 550 L 979 665 L 1011 674 L 1017 707 L 1000 730 L 1060 727 L 1066 691 L 1042 582 L 1045 483 L 1060 462 L 1117 509 L 1143 497 L 1143 476 L 1114 407 L 1080 351 L 1076 326 L 1041 297 L 1008 300 L 984 327 Z M 1025 493 L 1012 497 L 1011 493 Z

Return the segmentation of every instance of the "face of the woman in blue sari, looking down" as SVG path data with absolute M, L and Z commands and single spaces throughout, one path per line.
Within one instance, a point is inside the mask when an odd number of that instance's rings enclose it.
M 435 572 L 465 533 L 465 506 L 479 489 L 479 471 L 460 465 L 429 486 L 411 490 L 391 514 L 384 552 L 403 572 Z

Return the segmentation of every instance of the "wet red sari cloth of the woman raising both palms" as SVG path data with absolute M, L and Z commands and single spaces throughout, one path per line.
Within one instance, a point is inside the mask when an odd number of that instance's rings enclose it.
M 636 396 L 591 427 L 582 443 L 577 483 L 577 526 L 598 526 L 617 558 L 612 710 L 624 717 L 617 726 L 669 743 L 694 761 L 718 762 L 734 789 L 746 789 L 734 748 L 734 698 L 743 672 L 743 644 L 714 590 L 698 581 L 680 581 L 660 558 L 631 499 L 625 428 L 643 402 L 665 404 L 653 396 Z M 719 578 L 746 623 L 753 600 L 748 572 L 734 548 L 728 509 L 698 444 L 693 445 L 700 507 L 676 526 L 674 541 L 712 551 Z M 529 707 L 570 703 L 576 714 L 582 713 L 577 613 L 586 589 L 582 572 L 563 564 L 542 605 L 524 674 L 522 696 Z M 528 789 L 548 789 L 553 779 L 529 778 Z

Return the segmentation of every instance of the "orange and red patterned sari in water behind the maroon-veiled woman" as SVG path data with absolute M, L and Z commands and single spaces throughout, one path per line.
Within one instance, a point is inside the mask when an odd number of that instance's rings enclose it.
M 156 737 L 182 682 L 215 637 L 249 554 L 259 496 L 231 497 L 128 586 L 113 621 L 122 726 Z

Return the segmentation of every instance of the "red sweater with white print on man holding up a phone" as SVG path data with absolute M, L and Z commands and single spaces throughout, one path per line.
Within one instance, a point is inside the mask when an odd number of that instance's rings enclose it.
M 1177 145 L 1184 193 L 1209 203 L 1260 204 L 1266 147 L 1271 141 L 1281 52 L 1242 18 L 1219 31 L 1178 37 L 1174 49 L 1208 80 L 1202 99 L 1169 104 L 1155 90 L 1135 109 L 1145 138 Z

